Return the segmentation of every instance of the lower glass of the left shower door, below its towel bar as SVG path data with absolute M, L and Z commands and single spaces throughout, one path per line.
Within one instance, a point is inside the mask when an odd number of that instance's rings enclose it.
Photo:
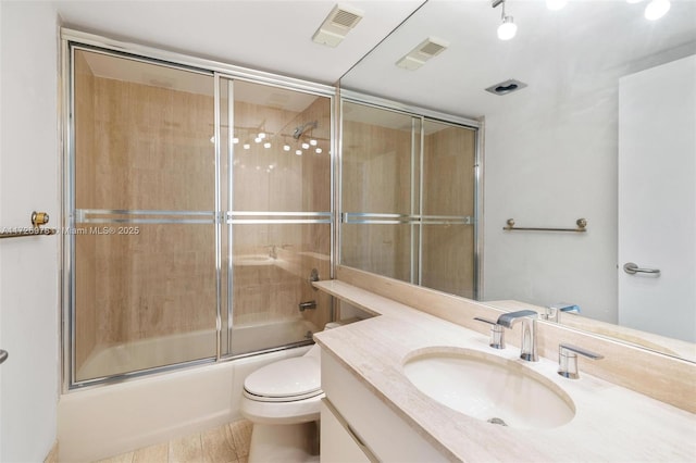
M 213 227 L 77 224 L 76 380 L 215 355 Z

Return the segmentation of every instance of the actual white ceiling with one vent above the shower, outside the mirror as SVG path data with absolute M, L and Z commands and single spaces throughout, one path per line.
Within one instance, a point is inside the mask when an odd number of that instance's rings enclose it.
M 364 17 L 330 48 L 312 35 L 334 0 L 55 0 L 66 27 L 321 84 L 335 84 L 423 0 L 343 3 Z

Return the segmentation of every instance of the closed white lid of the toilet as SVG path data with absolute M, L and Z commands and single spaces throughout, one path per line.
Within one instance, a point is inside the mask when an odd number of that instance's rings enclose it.
M 281 360 L 247 376 L 244 388 L 247 392 L 266 398 L 314 396 L 321 392 L 319 362 L 311 356 Z

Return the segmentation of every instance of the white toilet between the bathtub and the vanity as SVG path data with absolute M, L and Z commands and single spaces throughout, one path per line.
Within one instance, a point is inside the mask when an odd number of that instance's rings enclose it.
M 324 329 L 333 327 L 328 325 Z M 271 363 L 247 376 L 241 414 L 253 424 L 249 463 L 319 462 L 323 397 L 316 345 L 302 356 Z

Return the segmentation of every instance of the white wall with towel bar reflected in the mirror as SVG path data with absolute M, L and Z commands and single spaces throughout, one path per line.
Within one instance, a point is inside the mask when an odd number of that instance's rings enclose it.
M 593 78 L 579 92 L 570 70 L 547 92 L 543 75 L 525 76 L 530 87 L 486 114 L 483 300 L 574 302 L 617 321 L 618 83 Z M 573 228 L 581 217 L 585 234 L 502 230 L 508 218 Z

